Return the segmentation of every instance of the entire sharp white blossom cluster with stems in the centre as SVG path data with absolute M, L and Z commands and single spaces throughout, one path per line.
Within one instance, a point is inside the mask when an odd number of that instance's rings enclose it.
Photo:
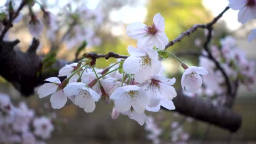
M 176 79 L 160 74 L 158 52 L 173 54 L 163 50 L 168 43 L 164 17 L 158 13 L 153 21 L 152 26 L 138 22 L 127 26 L 127 34 L 138 40 L 137 49 L 128 46 L 129 57 L 106 69 L 95 68 L 96 59 L 91 57 L 67 64 L 59 71 L 59 76 L 66 79 L 62 82 L 58 77 L 46 79 L 50 83 L 38 89 L 39 98 L 51 95 L 50 102 L 54 109 L 65 106 L 67 99 L 70 99 L 85 112 L 93 112 L 100 98 L 107 104 L 113 100 L 113 119 L 121 113 L 141 125 L 149 121 L 145 111 L 158 112 L 161 106 L 174 110 L 172 99 L 177 93 L 172 85 Z M 188 68 L 183 62 L 181 64 L 186 69 L 182 77 L 183 89 L 197 91 L 202 85 L 200 75 L 207 74 L 207 71 L 200 67 Z

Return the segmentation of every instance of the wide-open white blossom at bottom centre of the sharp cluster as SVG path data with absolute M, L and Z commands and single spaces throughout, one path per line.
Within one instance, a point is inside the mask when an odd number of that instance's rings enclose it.
M 114 100 L 114 105 L 120 112 L 127 112 L 132 107 L 136 113 L 142 113 L 150 102 L 147 93 L 135 85 L 115 89 L 110 99 Z

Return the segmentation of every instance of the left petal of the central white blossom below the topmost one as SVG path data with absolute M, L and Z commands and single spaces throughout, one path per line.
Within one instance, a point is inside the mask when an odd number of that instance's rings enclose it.
M 141 70 L 141 60 L 140 57 L 130 56 L 125 59 L 123 64 L 123 69 L 126 74 L 136 74 L 139 70 Z

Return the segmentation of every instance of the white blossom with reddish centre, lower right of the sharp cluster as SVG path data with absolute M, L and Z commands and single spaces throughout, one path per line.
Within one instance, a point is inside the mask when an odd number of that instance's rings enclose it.
M 160 75 L 153 76 L 150 79 L 150 82 L 145 85 L 146 92 L 150 99 L 150 104 L 148 106 L 155 107 L 159 105 L 161 99 L 165 99 L 167 103 L 173 105 L 171 100 L 177 95 L 175 89 L 172 87 L 175 81 L 175 78 L 167 79 Z

